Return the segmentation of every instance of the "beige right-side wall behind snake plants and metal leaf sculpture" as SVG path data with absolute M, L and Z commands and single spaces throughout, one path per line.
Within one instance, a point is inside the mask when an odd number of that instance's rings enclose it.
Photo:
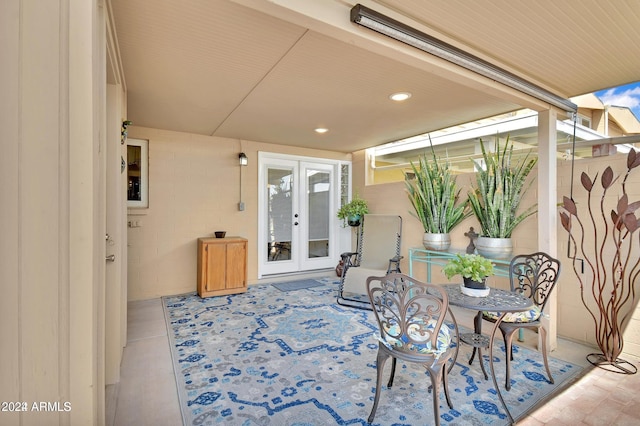
M 409 212 L 412 210 L 411 204 L 405 193 L 404 182 L 386 183 L 379 185 L 365 186 L 364 179 L 364 152 L 354 154 L 354 186 L 367 199 L 373 213 L 399 214 L 404 218 L 402 233 L 402 253 L 405 256 L 402 263 L 404 271 L 408 270 L 408 249 L 410 247 L 420 247 L 422 245 L 422 233 L 424 232 L 418 219 Z M 574 199 L 584 206 L 584 190 L 581 190 L 580 174 L 586 171 L 591 176 L 595 172 L 602 172 L 607 165 L 610 165 L 614 172 L 620 174 L 624 172 L 626 157 L 617 155 L 613 157 L 600 157 L 581 160 L 575 163 L 574 170 Z M 562 196 L 570 194 L 571 188 L 571 163 L 569 161 L 558 161 L 558 202 Z M 532 172 L 537 175 L 537 169 Z M 464 174 L 458 177 L 458 185 L 461 186 L 462 194 L 466 193 L 473 174 Z M 628 183 L 628 193 L 630 201 L 640 200 L 640 170 L 633 173 Z M 537 187 L 534 184 L 527 197 L 523 200 L 523 206 L 528 206 L 535 202 L 537 197 Z M 614 201 L 615 202 L 615 201 Z M 479 225 L 474 217 L 466 219 L 451 233 L 452 247 L 465 248 L 469 242 L 464 233 L 473 226 L 479 231 Z M 541 232 L 544 232 L 542 230 Z M 538 249 L 538 222 L 536 215 L 526 219 L 513 233 L 514 252 L 528 253 Z M 567 257 L 567 233 L 558 221 L 558 257 L 562 263 L 562 272 L 557 285 L 558 302 L 558 335 L 595 345 L 594 323 L 580 299 L 580 287 L 573 271 L 570 259 Z M 414 275 L 426 277 L 424 265 L 414 265 Z M 440 272 L 440 268 L 432 268 L 433 282 L 447 282 L 446 277 Z M 508 281 L 504 278 L 493 278 L 493 283 L 497 287 L 508 287 Z M 632 319 L 625 329 L 625 347 L 627 353 L 640 355 L 640 308 L 636 303 L 630 305 L 633 312 Z

